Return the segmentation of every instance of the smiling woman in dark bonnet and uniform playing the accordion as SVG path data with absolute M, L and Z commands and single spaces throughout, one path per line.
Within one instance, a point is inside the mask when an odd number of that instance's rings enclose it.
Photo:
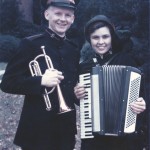
M 103 15 L 92 18 L 85 26 L 85 38 L 90 43 L 93 53 L 90 57 L 80 64 L 82 73 L 90 72 L 93 66 L 124 65 L 136 67 L 132 58 L 120 51 L 119 40 L 111 21 Z M 85 96 L 84 85 L 78 84 L 74 88 L 78 99 Z M 131 104 L 134 113 L 140 114 L 146 109 L 146 103 L 142 97 Z M 141 115 L 141 114 L 140 114 Z M 139 116 L 140 116 L 139 115 Z M 82 139 L 81 150 L 142 150 L 141 142 L 141 118 L 137 121 L 137 131 L 133 134 L 114 137 L 114 136 L 95 136 L 91 139 Z

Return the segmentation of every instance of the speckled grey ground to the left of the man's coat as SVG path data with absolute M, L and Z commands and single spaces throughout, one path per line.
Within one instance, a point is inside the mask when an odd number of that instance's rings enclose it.
M 0 91 L 0 150 L 21 150 L 13 144 L 23 104 L 23 96 Z

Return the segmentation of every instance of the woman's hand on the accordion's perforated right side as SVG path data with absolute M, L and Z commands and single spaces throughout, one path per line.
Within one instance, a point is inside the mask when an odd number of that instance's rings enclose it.
M 139 97 L 136 101 L 131 103 L 130 106 L 136 114 L 140 114 L 146 109 L 146 103 L 142 97 Z

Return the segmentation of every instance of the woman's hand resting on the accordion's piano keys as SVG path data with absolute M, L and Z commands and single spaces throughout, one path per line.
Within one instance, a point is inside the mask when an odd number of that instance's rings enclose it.
M 84 85 L 80 85 L 79 83 L 74 87 L 74 94 L 77 99 L 82 99 L 86 95 L 86 90 Z

